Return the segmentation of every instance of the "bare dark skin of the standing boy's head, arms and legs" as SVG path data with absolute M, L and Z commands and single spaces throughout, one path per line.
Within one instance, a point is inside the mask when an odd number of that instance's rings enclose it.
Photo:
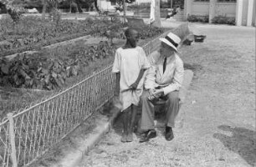
M 125 46 L 123 46 L 122 48 L 123 49 L 136 48 L 136 44 L 139 41 L 139 33 L 133 28 L 128 28 L 125 31 L 125 37 L 126 37 L 126 43 L 125 43 Z M 141 69 L 139 76 L 136 79 L 136 82 L 131 84 L 130 89 L 134 89 L 134 90 L 137 89 L 137 86 L 141 81 L 141 78 L 145 73 L 145 71 L 146 69 Z M 115 98 L 119 96 L 119 92 L 120 92 L 120 73 L 116 73 Z M 136 121 L 136 114 L 137 114 L 137 106 L 134 104 L 131 104 L 129 108 L 123 111 L 122 119 L 123 119 L 124 132 L 121 137 L 121 142 L 131 142 L 133 140 L 132 133 L 133 133 L 134 124 Z

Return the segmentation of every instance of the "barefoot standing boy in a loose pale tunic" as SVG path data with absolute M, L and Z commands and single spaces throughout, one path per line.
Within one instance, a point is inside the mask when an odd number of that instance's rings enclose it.
M 133 140 L 136 110 L 143 92 L 144 73 L 151 65 L 143 48 L 137 47 L 138 32 L 133 28 L 125 30 L 125 46 L 115 52 L 112 72 L 116 73 L 115 97 L 122 104 L 123 134 L 121 142 Z

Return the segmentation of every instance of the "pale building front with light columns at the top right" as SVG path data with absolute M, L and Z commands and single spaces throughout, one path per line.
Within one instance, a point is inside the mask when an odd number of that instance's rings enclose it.
M 237 26 L 255 26 L 256 2 L 254 0 L 184 0 L 184 19 L 189 15 L 226 16 L 236 18 Z

